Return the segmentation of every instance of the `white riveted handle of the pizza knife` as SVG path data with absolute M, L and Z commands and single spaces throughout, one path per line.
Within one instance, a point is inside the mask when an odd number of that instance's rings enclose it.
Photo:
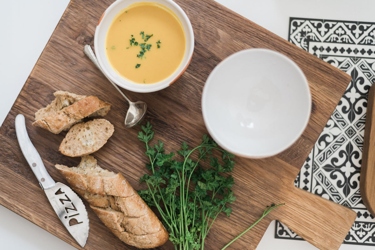
M 30 168 L 33 170 L 34 175 L 38 179 L 40 186 L 42 189 L 50 189 L 54 187 L 56 184 L 55 181 L 49 176 L 39 153 L 36 151 L 27 135 L 25 117 L 23 115 L 17 115 L 15 119 L 15 127 L 22 153 L 24 154 L 28 165 L 30 165 Z

